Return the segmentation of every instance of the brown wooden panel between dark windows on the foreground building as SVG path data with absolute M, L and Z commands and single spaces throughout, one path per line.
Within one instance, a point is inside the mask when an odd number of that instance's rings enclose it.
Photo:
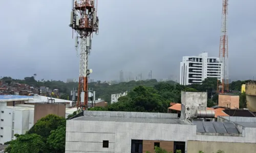
M 166 151 L 174 152 L 174 142 L 173 141 L 158 141 L 158 140 L 143 140 L 143 153 L 150 151 L 151 153 L 155 152 L 154 143 L 159 142 L 160 147 Z

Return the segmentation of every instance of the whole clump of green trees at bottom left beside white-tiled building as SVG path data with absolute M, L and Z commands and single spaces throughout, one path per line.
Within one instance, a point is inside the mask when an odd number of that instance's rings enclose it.
M 39 119 L 25 135 L 15 134 L 15 137 L 15 140 L 5 143 L 9 144 L 5 152 L 65 152 L 66 119 L 47 115 Z

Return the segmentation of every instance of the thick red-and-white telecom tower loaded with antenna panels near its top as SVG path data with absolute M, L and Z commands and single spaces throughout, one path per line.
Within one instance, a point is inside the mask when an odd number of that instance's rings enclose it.
M 95 0 L 72 0 L 70 27 L 77 33 L 75 47 L 80 48 L 79 85 L 77 90 L 77 110 L 88 108 L 88 57 L 92 48 L 92 34 L 98 35 L 99 19 Z M 80 42 L 79 42 L 80 40 Z M 80 43 L 80 44 L 79 44 Z

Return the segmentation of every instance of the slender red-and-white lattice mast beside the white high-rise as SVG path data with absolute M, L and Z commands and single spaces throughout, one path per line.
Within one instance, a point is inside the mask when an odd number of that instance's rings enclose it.
M 222 30 L 220 38 L 219 58 L 222 62 L 221 83 L 218 80 L 217 91 L 220 93 L 228 92 L 228 37 L 227 37 L 227 6 L 228 0 L 223 0 L 222 3 Z

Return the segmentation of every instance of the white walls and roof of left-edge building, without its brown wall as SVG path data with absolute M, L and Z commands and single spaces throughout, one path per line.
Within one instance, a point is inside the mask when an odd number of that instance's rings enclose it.
M 26 134 L 34 125 L 34 105 L 30 103 L 47 102 L 49 99 L 45 96 L 0 95 L 0 145 L 15 139 L 14 134 Z M 55 103 L 72 104 L 70 100 L 52 99 Z M 67 108 L 66 117 L 76 110 Z

